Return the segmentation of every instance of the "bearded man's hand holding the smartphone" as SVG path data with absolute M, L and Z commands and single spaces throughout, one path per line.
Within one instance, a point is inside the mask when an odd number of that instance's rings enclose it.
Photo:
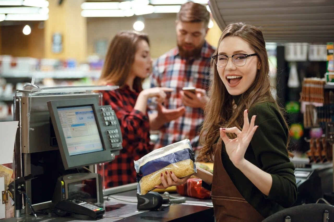
M 180 94 L 184 105 L 192 108 L 202 108 L 204 110 L 208 100 L 204 89 L 196 88 L 195 94 L 182 90 Z

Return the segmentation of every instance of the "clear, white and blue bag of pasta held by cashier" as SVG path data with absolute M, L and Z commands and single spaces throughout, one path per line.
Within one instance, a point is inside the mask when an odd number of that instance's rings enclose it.
M 188 139 L 153 150 L 135 162 L 137 193 L 145 195 L 161 184 L 160 175 L 172 171 L 177 178 L 196 173 L 194 151 Z

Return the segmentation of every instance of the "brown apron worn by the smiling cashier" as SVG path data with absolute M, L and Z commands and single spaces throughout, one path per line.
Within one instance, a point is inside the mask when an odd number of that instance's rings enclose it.
M 212 203 L 216 222 L 259 222 L 264 217 L 249 204 L 234 186 L 221 161 L 222 143 L 213 145 L 214 163 Z

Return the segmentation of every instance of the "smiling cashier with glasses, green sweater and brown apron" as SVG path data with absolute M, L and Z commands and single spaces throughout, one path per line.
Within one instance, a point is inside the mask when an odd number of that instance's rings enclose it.
M 271 94 L 261 30 L 229 24 L 212 58 L 197 160 L 213 161 L 213 174 L 196 167 L 195 176 L 212 190 L 217 222 L 260 222 L 297 198 L 289 130 Z

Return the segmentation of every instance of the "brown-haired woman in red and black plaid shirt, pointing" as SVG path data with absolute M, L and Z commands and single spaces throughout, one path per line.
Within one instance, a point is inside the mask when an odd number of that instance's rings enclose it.
M 100 84 L 117 85 L 114 91 L 103 91 L 104 105 L 111 105 L 121 126 L 123 149 L 115 160 L 100 170 L 105 176 L 105 188 L 136 182 L 134 160 L 151 152 L 149 130 L 178 118 L 184 107 L 168 110 L 161 105 L 170 88 L 142 89 L 142 82 L 151 72 L 149 39 L 134 31 L 119 32 L 110 43 Z M 147 100 L 156 97 L 158 112 L 148 116 Z

